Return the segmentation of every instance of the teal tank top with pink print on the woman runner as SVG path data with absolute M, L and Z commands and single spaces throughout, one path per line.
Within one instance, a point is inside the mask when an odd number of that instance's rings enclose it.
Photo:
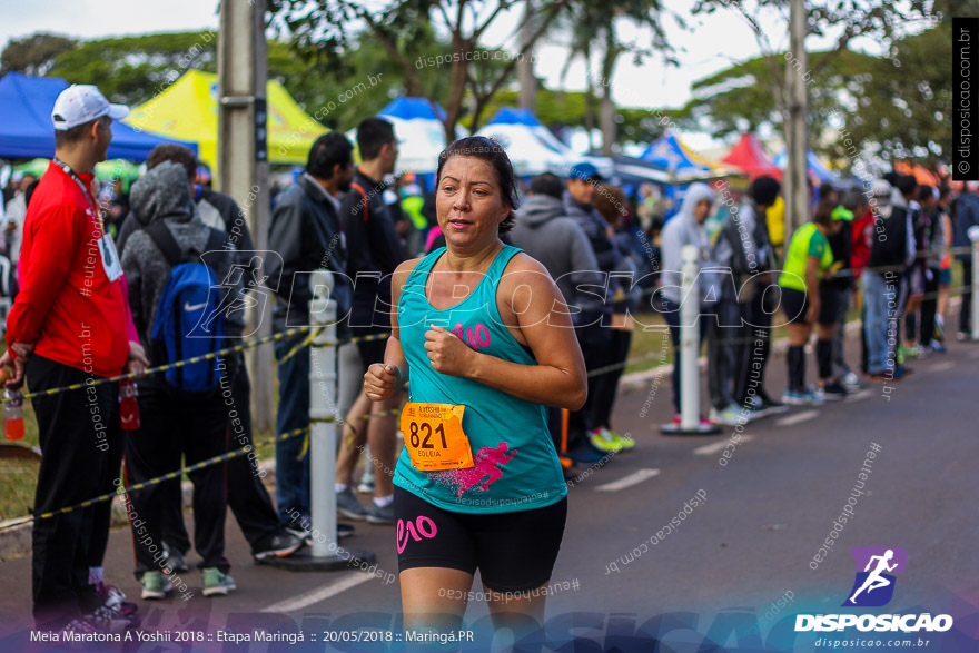
M 481 354 L 521 365 L 536 365 L 527 348 L 503 324 L 496 287 L 503 269 L 521 249 L 505 245 L 468 297 L 445 310 L 433 308 L 425 283 L 436 249 L 408 275 L 397 315 L 402 349 L 411 369 L 409 400 L 466 407 L 463 431 L 469 438 L 474 467 L 421 472 L 402 451 L 394 484 L 428 503 L 456 513 L 508 513 L 552 505 L 567 494 L 551 433 L 547 407 L 518 399 L 475 380 L 435 372 L 425 350 L 429 325 L 459 336 Z

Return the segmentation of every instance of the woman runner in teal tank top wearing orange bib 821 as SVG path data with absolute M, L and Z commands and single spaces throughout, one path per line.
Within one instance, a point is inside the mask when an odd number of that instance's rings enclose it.
M 547 270 L 500 239 L 518 204 L 503 148 L 457 140 L 436 179 L 446 245 L 395 270 L 384 364 L 364 376 L 377 402 L 411 372 L 394 477 L 404 624 L 457 629 L 478 568 L 494 627 L 526 632 L 567 512 L 546 406 L 581 408 L 585 366 Z

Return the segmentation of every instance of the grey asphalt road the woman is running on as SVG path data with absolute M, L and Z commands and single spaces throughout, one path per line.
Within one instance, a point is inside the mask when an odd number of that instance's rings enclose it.
M 878 384 L 846 402 L 794 408 L 743 433 L 730 427 L 708 437 L 659 433 L 671 413 L 669 375 L 621 395 L 614 426 L 637 446 L 572 483 L 547 606 L 551 644 L 526 643 L 525 650 L 652 651 L 657 637 L 660 651 L 821 651 L 817 640 L 830 637 L 860 640 L 847 650 L 874 651 L 883 647 L 874 639 L 893 637 L 898 646 L 889 651 L 979 651 L 979 344 L 952 343 L 948 354 L 910 365 L 916 374 L 889 394 Z M 771 388 L 783 387 L 784 367 L 782 356 L 770 363 Z M 847 523 L 832 538 L 841 514 Z M 357 535 L 343 543 L 375 552 L 378 578 L 360 571 L 256 566 L 230 516 L 228 524 L 237 592 L 205 598 L 199 574 L 191 573 L 187 583 L 196 595 L 190 601 L 177 596 L 140 607 L 145 630 L 199 630 L 202 643 L 131 642 L 92 650 L 398 649 L 393 527 L 358 524 Z M 828 538 L 831 547 L 823 544 Z M 886 607 L 840 607 L 853 584 L 850 550 L 856 546 L 907 551 Z M 137 595 L 131 565 L 128 531 L 113 533 L 107 580 Z M 0 564 L 0 651 L 19 651 L 28 646 L 31 623 L 30 558 Z M 945 633 L 793 632 L 797 613 L 924 612 L 949 614 L 955 625 Z M 506 633 L 488 640 L 486 603 L 478 594 L 466 622 L 476 642 L 465 650 L 501 649 L 507 642 Z M 250 635 L 263 627 L 301 631 L 306 644 L 218 641 L 219 633 Z M 365 630 L 393 639 L 324 643 L 324 637 Z

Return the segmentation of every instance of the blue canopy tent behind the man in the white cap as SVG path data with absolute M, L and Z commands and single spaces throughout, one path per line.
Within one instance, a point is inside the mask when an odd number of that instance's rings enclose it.
M 51 109 L 58 95 L 66 88 L 68 82 L 60 77 L 29 77 L 8 72 L 0 79 L 0 158 L 55 156 Z M 152 148 L 165 142 L 176 142 L 197 152 L 197 144 L 150 136 L 116 121 L 112 123 L 112 142 L 107 157 L 144 161 Z

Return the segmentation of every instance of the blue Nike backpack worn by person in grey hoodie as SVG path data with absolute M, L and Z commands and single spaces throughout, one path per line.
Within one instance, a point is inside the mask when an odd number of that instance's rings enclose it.
M 162 220 L 150 224 L 146 232 L 170 264 L 170 276 L 160 295 L 151 332 L 154 365 L 172 364 L 202 356 L 225 346 L 222 294 L 214 269 L 197 253 L 180 247 Z M 226 235 L 210 229 L 205 251 L 222 248 Z M 164 373 L 170 386 L 187 392 L 214 389 L 221 379 L 218 359 L 209 358 Z

